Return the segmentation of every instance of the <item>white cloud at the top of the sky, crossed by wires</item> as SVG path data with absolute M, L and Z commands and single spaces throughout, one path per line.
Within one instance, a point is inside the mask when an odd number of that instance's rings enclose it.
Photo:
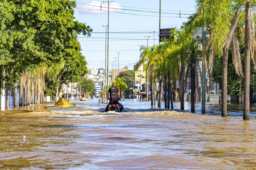
M 106 13 L 108 11 L 107 2 L 101 4 L 101 1 L 92 1 L 87 4 L 88 5 L 78 4 L 80 6 L 78 8 L 82 8 L 79 9 L 80 14 L 101 14 Z M 111 2 L 109 3 L 109 11 L 120 12 L 122 11 L 122 7 L 117 2 Z

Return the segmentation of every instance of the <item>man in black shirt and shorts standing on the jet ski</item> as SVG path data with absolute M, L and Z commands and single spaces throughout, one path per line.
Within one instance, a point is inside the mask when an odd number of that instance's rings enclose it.
M 112 84 L 112 87 L 110 87 L 108 90 L 107 97 L 109 95 L 110 95 L 110 98 L 109 98 L 110 100 L 109 100 L 108 111 L 110 110 L 111 106 L 113 104 L 115 104 L 118 111 L 120 112 L 119 102 L 118 102 L 118 100 L 120 100 L 120 92 L 119 92 L 118 88 L 116 88 L 116 85 L 114 83 Z

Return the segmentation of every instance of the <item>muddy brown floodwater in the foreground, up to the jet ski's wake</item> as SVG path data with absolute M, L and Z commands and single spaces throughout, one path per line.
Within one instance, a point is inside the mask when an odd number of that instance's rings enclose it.
M 256 121 L 172 111 L 1 113 L 0 169 L 254 169 Z

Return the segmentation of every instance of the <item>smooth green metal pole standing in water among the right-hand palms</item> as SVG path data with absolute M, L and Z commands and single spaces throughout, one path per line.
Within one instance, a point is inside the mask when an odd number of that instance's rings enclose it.
M 206 29 L 203 29 L 203 48 L 206 42 Z M 206 78 L 205 78 L 205 68 L 204 68 L 204 64 L 202 63 L 202 115 L 205 115 L 205 88 L 206 88 Z

